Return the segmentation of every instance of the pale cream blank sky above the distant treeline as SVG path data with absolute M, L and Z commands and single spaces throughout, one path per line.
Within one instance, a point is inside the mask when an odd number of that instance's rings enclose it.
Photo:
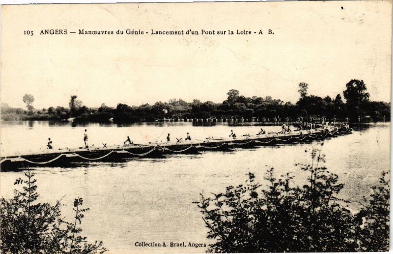
M 390 101 L 391 7 L 391 1 L 2 6 L 0 100 L 25 107 L 22 97 L 31 94 L 35 108 L 68 106 L 71 95 L 89 107 L 222 102 L 236 89 L 294 103 L 300 82 L 311 95 L 335 97 L 351 79 L 363 79 L 371 100 Z M 68 34 L 40 35 L 43 29 Z M 152 29 L 264 34 L 151 35 Z

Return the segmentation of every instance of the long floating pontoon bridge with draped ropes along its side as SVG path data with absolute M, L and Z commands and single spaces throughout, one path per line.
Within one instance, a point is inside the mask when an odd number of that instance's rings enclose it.
M 286 133 L 267 133 L 241 136 L 235 139 L 189 140 L 183 142 L 161 142 L 146 145 L 90 147 L 80 149 L 48 149 L 46 152 L 1 157 L 0 170 L 8 171 L 29 166 L 71 167 L 84 161 L 122 161 L 125 159 L 155 158 L 168 154 L 192 154 L 203 151 L 228 151 L 231 148 L 253 148 L 286 143 L 309 142 L 351 133 L 351 129 L 312 129 Z

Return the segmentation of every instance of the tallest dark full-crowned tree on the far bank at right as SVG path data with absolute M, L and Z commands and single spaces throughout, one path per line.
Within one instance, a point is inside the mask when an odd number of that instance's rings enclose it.
M 365 82 L 363 80 L 352 79 L 346 84 L 346 90 L 344 91 L 344 98 L 347 100 L 347 107 L 351 115 L 361 116 L 362 106 L 368 101 L 370 96 L 365 91 Z

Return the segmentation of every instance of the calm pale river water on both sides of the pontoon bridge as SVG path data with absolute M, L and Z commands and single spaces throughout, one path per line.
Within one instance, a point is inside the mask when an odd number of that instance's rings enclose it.
M 228 126 L 194 126 L 192 123 L 153 123 L 132 125 L 73 125 L 51 122 L 3 122 L 0 128 L 2 156 L 46 150 L 48 137 L 54 148 L 83 146 L 87 129 L 90 145 L 120 144 L 127 135 L 135 143 L 186 136 L 193 140 L 228 136 L 230 130 L 241 136 L 255 134 L 257 123 Z M 279 131 L 278 126 L 263 127 Z M 326 166 L 344 183 L 340 196 L 351 201 L 350 209 L 359 211 L 364 196 L 371 193 L 382 171 L 390 170 L 390 123 L 354 126 L 351 135 L 338 136 L 309 144 L 280 145 L 233 152 L 206 152 L 200 155 L 177 155 L 159 159 L 134 159 L 123 163 L 96 162 L 75 168 L 35 168 L 40 202 L 62 199 L 62 213 L 72 221 L 72 203 L 84 198 L 90 208 L 82 222 L 84 236 L 90 241 L 102 240 L 109 253 L 135 252 L 205 252 L 206 248 L 143 248 L 136 242 L 211 243 L 207 229 L 193 201 L 199 193 L 225 191 L 229 185 L 243 184 L 246 174 L 253 172 L 264 183 L 268 167 L 276 175 L 294 175 L 293 184 L 302 185 L 307 175 L 295 163 L 310 161 L 306 150 L 319 148 L 326 155 Z M 323 143 L 323 146 L 321 144 Z M 13 195 L 13 183 L 23 172 L 2 172 L 1 196 Z

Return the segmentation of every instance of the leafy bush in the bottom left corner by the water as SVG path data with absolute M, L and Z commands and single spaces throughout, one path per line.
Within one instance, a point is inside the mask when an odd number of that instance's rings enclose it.
M 12 199 L 0 199 L 0 248 L 1 253 L 76 253 L 96 254 L 107 250 L 102 242 L 88 243 L 80 236 L 78 227 L 89 209 L 81 209 L 83 199 L 74 201 L 75 221 L 63 221 L 60 201 L 52 206 L 37 203 L 34 173 L 25 172 L 27 180 L 17 179 L 15 185 L 23 185 L 23 191 L 14 190 Z

